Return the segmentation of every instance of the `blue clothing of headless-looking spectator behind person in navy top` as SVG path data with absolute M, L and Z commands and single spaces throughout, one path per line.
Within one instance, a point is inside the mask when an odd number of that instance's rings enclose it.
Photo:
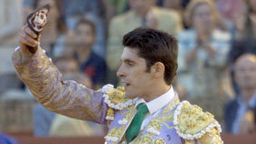
M 105 7 L 101 0 L 62 0 L 62 18 L 69 30 L 75 29 L 81 18 L 90 20 L 95 25 L 95 43 L 93 50 L 104 58 L 105 50 Z

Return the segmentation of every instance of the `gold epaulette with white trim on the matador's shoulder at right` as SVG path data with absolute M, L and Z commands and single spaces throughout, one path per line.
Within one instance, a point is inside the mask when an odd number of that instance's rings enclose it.
M 206 132 L 215 129 L 220 133 L 221 126 L 213 114 L 203 112 L 202 108 L 187 101 L 179 103 L 174 115 L 175 130 L 186 140 L 200 139 Z

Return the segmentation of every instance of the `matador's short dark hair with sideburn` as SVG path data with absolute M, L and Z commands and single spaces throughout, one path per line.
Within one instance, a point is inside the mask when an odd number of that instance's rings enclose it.
M 149 28 L 137 28 L 123 37 L 123 45 L 130 49 L 138 49 L 137 56 L 145 58 L 147 72 L 156 62 L 165 65 L 165 81 L 173 83 L 177 70 L 177 40 L 165 31 Z

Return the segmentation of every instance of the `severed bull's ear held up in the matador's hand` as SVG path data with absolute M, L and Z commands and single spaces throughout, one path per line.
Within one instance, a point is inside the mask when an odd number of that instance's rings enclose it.
M 43 31 L 43 27 L 48 21 L 47 15 L 49 14 L 49 12 L 50 4 L 45 4 L 42 7 L 33 11 L 33 13 L 29 14 L 27 17 L 28 27 L 38 35 L 38 37 L 35 39 L 37 41 L 40 40 L 40 34 Z M 37 46 L 34 48 L 28 46 L 28 49 L 31 53 L 35 53 L 35 51 L 37 50 Z

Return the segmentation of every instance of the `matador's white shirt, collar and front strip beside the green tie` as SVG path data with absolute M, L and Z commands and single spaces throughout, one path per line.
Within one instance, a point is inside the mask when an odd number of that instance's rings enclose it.
M 165 94 L 160 95 L 159 97 L 157 97 L 156 99 L 150 102 L 146 102 L 142 98 L 137 100 L 136 107 L 139 103 L 146 103 L 147 109 L 148 109 L 148 113 L 141 124 L 140 130 L 144 130 L 147 124 L 149 123 L 149 121 L 151 121 L 153 118 L 158 116 L 158 114 L 162 112 L 166 104 L 170 103 L 171 101 L 174 101 L 174 98 L 175 98 L 175 91 L 173 86 L 171 86 L 171 88 Z

